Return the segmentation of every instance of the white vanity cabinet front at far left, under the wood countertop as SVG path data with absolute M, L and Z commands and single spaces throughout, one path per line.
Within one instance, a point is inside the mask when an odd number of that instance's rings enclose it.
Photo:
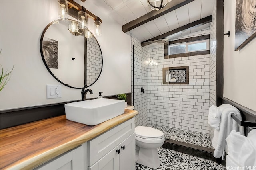
M 85 170 L 88 167 L 87 142 L 52 160 L 38 166 L 34 170 Z

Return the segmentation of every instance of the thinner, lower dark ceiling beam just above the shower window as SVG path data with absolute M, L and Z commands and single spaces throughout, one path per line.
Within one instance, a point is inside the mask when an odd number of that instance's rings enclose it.
M 204 24 L 206 24 L 206 23 L 209 23 L 209 22 L 211 22 L 211 21 L 212 21 L 212 15 L 207 16 L 207 17 L 205 17 L 205 18 L 202 18 L 202 19 L 200 19 L 200 20 L 194 21 L 194 22 L 189 23 L 189 24 L 187 24 L 187 25 L 184 25 L 184 26 L 182 26 L 182 27 L 178 27 L 177 29 L 173 29 L 172 31 L 169 31 L 169 32 L 167 32 L 167 33 L 158 35 L 158 36 L 153 37 L 153 38 L 151 38 L 151 39 L 148 39 L 148 40 L 146 40 L 146 41 L 143 41 L 143 42 L 141 43 L 141 46 L 144 47 L 144 46 L 150 44 L 149 42 L 151 42 L 151 41 L 152 41 L 152 43 L 154 43 L 154 42 L 155 42 L 156 40 L 158 40 L 158 39 L 165 39 L 165 38 L 167 38 L 168 36 L 170 36 L 170 35 L 172 35 L 172 34 L 181 33 L 181 32 L 187 31 L 188 29 L 191 29 L 191 28 L 193 28 L 193 27 L 199 27 L 199 26 L 204 25 Z M 145 45 L 145 44 L 146 44 L 146 45 Z

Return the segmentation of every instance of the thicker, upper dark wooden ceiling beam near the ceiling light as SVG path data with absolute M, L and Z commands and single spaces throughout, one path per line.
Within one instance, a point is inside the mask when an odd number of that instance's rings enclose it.
M 151 12 L 148 12 L 144 16 L 137 18 L 136 20 L 126 23 L 125 25 L 122 26 L 122 30 L 124 33 L 126 33 L 136 27 L 139 27 L 140 25 L 143 25 L 144 23 L 152 21 L 164 14 L 167 14 L 173 10 L 176 10 L 177 8 L 180 8 L 181 6 L 184 6 L 192 1 L 194 0 L 172 0 L 168 2 L 168 4 L 161 10 L 158 10 L 158 11 L 153 10 Z

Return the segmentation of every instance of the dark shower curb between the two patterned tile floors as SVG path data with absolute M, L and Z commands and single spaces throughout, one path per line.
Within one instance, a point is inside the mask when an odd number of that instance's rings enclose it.
M 199 158 L 204 158 L 207 160 L 212 160 L 218 164 L 225 165 L 226 160 L 222 160 L 221 158 L 214 158 L 213 157 L 213 148 L 206 148 L 198 145 L 194 145 L 191 143 L 185 143 L 185 142 L 180 142 L 172 139 L 165 139 L 164 145 L 162 146 L 163 148 L 170 149 L 170 150 L 175 150 L 177 152 L 182 152 L 185 154 L 190 154 L 193 156 L 197 156 Z

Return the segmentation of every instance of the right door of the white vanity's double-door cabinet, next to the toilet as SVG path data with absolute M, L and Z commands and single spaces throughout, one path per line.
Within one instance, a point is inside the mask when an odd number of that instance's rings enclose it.
M 120 170 L 135 170 L 135 133 L 120 143 L 119 149 Z

